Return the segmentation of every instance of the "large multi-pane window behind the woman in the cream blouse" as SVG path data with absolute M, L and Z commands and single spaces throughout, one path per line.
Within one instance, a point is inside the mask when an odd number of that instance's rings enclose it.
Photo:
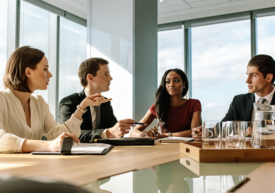
M 34 93 L 42 95 L 57 118 L 59 100 L 82 90 L 78 67 L 86 59 L 86 20 L 40 0 L 1 1 L 0 5 L 1 83 L 7 55 L 21 46 L 42 50 L 53 77 L 47 90 Z

